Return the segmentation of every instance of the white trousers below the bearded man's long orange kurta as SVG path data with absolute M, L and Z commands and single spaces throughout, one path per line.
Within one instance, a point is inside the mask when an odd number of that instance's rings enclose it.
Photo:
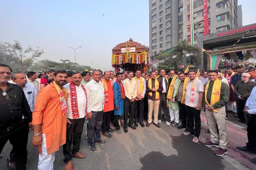
M 39 154 L 38 170 L 53 170 L 53 161 L 55 159 L 55 152 L 47 154 L 46 136 L 42 134 L 42 154 Z

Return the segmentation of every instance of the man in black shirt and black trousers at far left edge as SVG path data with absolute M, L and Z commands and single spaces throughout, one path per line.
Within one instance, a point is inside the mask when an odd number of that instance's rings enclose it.
M 16 169 L 26 170 L 28 130 L 32 126 L 32 112 L 19 85 L 10 84 L 12 69 L 0 64 L 0 153 L 9 140 L 16 154 Z

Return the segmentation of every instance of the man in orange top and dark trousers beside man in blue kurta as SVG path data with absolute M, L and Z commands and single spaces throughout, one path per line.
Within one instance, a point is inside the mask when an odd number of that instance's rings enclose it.
M 104 110 L 102 118 L 102 134 L 107 138 L 111 138 L 112 135 L 108 132 L 115 132 L 110 128 L 111 113 L 114 110 L 114 92 L 113 82 L 110 80 L 111 73 L 109 71 L 104 72 L 104 79 L 102 79 L 102 86 L 104 88 Z

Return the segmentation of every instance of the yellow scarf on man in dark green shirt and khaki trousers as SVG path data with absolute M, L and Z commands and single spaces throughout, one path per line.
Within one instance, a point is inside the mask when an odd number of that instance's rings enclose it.
M 220 100 L 220 96 L 221 96 L 221 80 L 216 79 L 213 86 L 212 86 L 212 95 L 211 95 L 211 105 L 209 105 L 209 102 L 207 101 L 207 91 L 208 91 L 208 87 L 209 87 L 209 83 L 207 82 L 206 86 L 205 86 L 205 91 L 204 91 L 204 99 L 205 102 L 207 103 L 208 106 L 212 106 L 215 103 L 217 103 Z M 213 110 L 214 112 L 218 112 L 218 108 L 215 108 Z

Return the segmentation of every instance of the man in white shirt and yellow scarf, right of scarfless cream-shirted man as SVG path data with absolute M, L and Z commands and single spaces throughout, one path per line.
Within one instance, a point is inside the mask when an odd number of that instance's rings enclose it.
M 141 127 L 145 127 L 143 123 L 143 109 L 144 109 L 144 96 L 146 93 L 146 81 L 143 77 L 141 77 L 141 70 L 136 71 L 136 76 L 133 78 L 137 82 L 137 96 L 135 99 L 135 119 L 134 124 L 135 127 L 138 127 L 138 122 L 140 122 Z M 145 75 L 145 74 L 144 74 Z M 139 116 L 139 119 L 138 119 Z

